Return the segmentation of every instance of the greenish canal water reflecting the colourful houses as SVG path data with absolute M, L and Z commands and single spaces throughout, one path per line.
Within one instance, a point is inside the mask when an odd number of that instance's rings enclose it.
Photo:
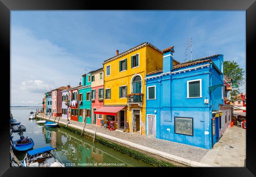
M 35 146 L 33 149 L 45 146 L 57 148 L 56 158 L 66 167 L 150 167 L 142 161 L 136 160 L 119 151 L 103 146 L 93 140 L 80 137 L 64 128 L 45 128 L 37 125 L 36 120 L 29 120 L 31 111 L 36 112 L 38 107 L 10 107 L 13 119 L 25 125 L 23 135 L 32 138 Z M 41 109 L 41 107 L 40 107 Z M 20 138 L 19 133 L 13 133 L 13 140 Z M 19 160 L 25 157 L 25 153 L 15 152 Z M 60 159 L 59 159 L 60 158 Z

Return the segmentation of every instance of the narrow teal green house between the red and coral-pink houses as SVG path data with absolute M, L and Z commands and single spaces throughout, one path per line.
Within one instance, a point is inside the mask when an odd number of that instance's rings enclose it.
M 78 122 L 85 122 L 87 118 L 87 124 L 92 124 L 91 120 L 91 72 L 82 75 L 83 87 L 79 90 L 79 117 Z

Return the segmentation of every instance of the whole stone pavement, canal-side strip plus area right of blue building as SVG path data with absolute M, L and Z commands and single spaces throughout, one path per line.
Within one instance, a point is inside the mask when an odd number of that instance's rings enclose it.
M 48 119 L 50 116 L 47 116 L 46 119 Z M 55 117 L 54 117 L 55 118 Z M 53 120 L 54 120 L 53 118 Z M 52 120 L 52 117 L 51 119 Z M 59 123 L 64 123 L 67 124 L 67 119 L 66 118 L 56 118 L 56 122 L 59 120 Z M 70 126 L 77 127 L 79 129 L 83 129 L 84 123 L 82 122 L 76 122 L 70 120 Z M 162 157 L 168 157 L 169 159 L 177 159 L 176 162 L 184 162 L 184 164 L 191 164 L 192 162 L 194 165 L 193 166 L 200 166 L 206 164 L 206 166 L 222 166 L 226 165 L 228 166 L 229 161 L 223 161 L 227 160 L 228 157 L 235 158 L 235 154 L 230 154 L 232 151 L 240 151 L 236 152 L 236 157 L 242 158 L 244 155 L 245 159 L 245 139 L 244 142 L 240 142 L 237 139 L 237 136 L 241 136 L 240 138 L 242 139 L 243 133 L 240 135 L 239 132 L 241 131 L 237 127 L 233 127 L 228 129 L 226 133 L 221 138 L 221 142 L 224 142 L 226 144 L 232 142 L 232 146 L 234 147 L 232 150 L 228 149 L 228 145 L 223 145 L 223 143 L 218 142 L 216 143 L 213 149 L 204 149 L 200 147 L 195 147 L 195 146 L 190 146 L 187 144 L 181 144 L 181 143 L 176 143 L 176 142 L 171 142 L 167 140 L 161 140 L 158 138 L 154 138 L 152 136 L 144 136 L 144 135 L 139 135 L 139 133 L 127 133 L 127 132 L 120 132 L 120 131 L 109 131 L 108 129 L 104 129 L 100 127 L 99 125 L 92 125 L 92 124 L 86 124 L 85 130 L 89 131 L 91 130 L 91 133 L 95 131 L 96 128 L 96 135 L 101 134 L 101 135 L 106 135 L 108 137 L 113 137 L 113 139 L 121 140 L 119 142 L 129 142 L 130 144 L 135 145 L 136 147 L 141 147 L 141 149 L 146 149 L 152 153 L 156 152 L 156 154 L 162 155 Z M 237 129 L 236 129 L 237 128 Z M 237 132 L 231 132 L 231 130 L 236 129 Z M 244 130 L 244 129 L 243 129 Z M 243 132 L 243 130 L 241 132 Z M 225 138 L 227 137 L 227 138 Z M 226 141 L 226 142 L 225 142 Z M 239 145 L 238 145 L 239 144 Z M 230 144 L 231 145 L 231 144 Z M 228 147 L 226 147 L 228 146 Z M 238 147 L 239 146 L 239 147 Z M 225 148 L 224 148 L 225 147 Z M 224 149 L 223 149 L 224 148 Z M 221 159 L 220 159 L 221 158 Z M 215 159 L 215 160 L 213 160 Z M 174 160 L 175 161 L 175 160 Z M 240 160 L 241 161 L 241 160 Z M 237 164 L 237 166 L 240 165 Z M 199 162 L 199 163 L 198 163 Z M 219 162 L 219 164 L 218 164 Z M 227 164 L 225 164 L 227 163 Z M 233 164 L 230 162 L 229 166 L 232 166 Z M 191 165 L 192 166 L 192 165 Z M 235 166 L 235 165 L 234 165 Z

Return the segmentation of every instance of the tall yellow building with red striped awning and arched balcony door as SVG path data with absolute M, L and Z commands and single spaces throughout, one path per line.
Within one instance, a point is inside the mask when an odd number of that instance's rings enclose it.
M 163 52 L 148 42 L 118 52 L 103 62 L 104 106 L 97 112 L 104 114 L 104 122 L 114 121 L 115 129 L 124 131 L 128 122 L 130 132 L 145 135 L 145 76 L 163 68 Z

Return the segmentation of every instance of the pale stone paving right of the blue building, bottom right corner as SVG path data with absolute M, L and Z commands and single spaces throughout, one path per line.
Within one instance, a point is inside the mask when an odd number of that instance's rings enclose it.
M 246 129 L 229 128 L 200 162 L 217 167 L 245 167 Z

